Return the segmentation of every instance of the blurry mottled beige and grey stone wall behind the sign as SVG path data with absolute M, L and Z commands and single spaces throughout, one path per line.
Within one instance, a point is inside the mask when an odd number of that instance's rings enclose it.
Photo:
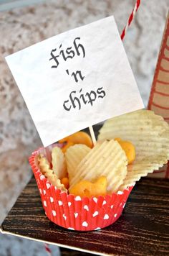
M 112 14 L 121 33 L 134 4 L 133 0 L 58 0 L 0 12 L 0 224 L 32 175 L 30 153 L 41 145 L 4 56 Z M 167 12 L 168 0 L 143 0 L 124 40 L 145 106 Z

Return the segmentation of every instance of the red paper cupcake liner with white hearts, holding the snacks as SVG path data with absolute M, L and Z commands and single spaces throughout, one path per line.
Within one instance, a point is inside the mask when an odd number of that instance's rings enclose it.
M 50 221 L 66 229 L 78 231 L 102 229 L 117 221 L 133 186 L 97 198 L 67 194 L 49 183 L 41 173 L 36 160 L 39 154 L 47 157 L 45 148 L 41 148 L 32 153 L 29 163 L 37 180 L 42 206 Z

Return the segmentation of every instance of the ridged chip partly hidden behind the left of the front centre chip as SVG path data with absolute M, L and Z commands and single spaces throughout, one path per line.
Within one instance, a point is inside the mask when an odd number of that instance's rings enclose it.
M 90 150 L 90 147 L 87 147 L 84 144 L 76 144 L 69 147 L 65 152 L 69 183 L 72 182 L 72 178 L 76 174 L 77 165 L 79 165 L 81 160 L 87 155 L 88 152 L 90 152 Z

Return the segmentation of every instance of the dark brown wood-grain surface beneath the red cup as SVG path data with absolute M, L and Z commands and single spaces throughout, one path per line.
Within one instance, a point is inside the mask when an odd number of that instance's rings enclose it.
M 169 255 L 169 180 L 143 178 L 115 224 L 95 232 L 73 232 L 47 219 L 32 178 L 1 231 L 97 255 Z

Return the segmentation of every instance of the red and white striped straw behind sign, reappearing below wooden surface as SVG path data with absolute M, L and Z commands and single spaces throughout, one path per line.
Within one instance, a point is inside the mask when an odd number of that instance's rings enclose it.
M 127 32 L 127 28 L 130 26 L 130 23 L 132 22 L 132 19 L 134 19 L 134 17 L 135 17 L 135 13 L 137 12 L 138 7 L 140 6 L 140 1 L 141 0 L 137 0 L 136 3 L 135 3 L 134 9 L 132 9 L 132 13 L 130 14 L 129 19 L 127 20 L 127 25 L 122 30 L 121 40 L 123 40 L 123 38 L 125 37 L 125 34 Z M 44 244 L 44 247 L 45 247 L 45 250 L 47 251 L 47 254 L 49 256 L 52 256 L 52 251 L 50 250 L 48 244 Z

